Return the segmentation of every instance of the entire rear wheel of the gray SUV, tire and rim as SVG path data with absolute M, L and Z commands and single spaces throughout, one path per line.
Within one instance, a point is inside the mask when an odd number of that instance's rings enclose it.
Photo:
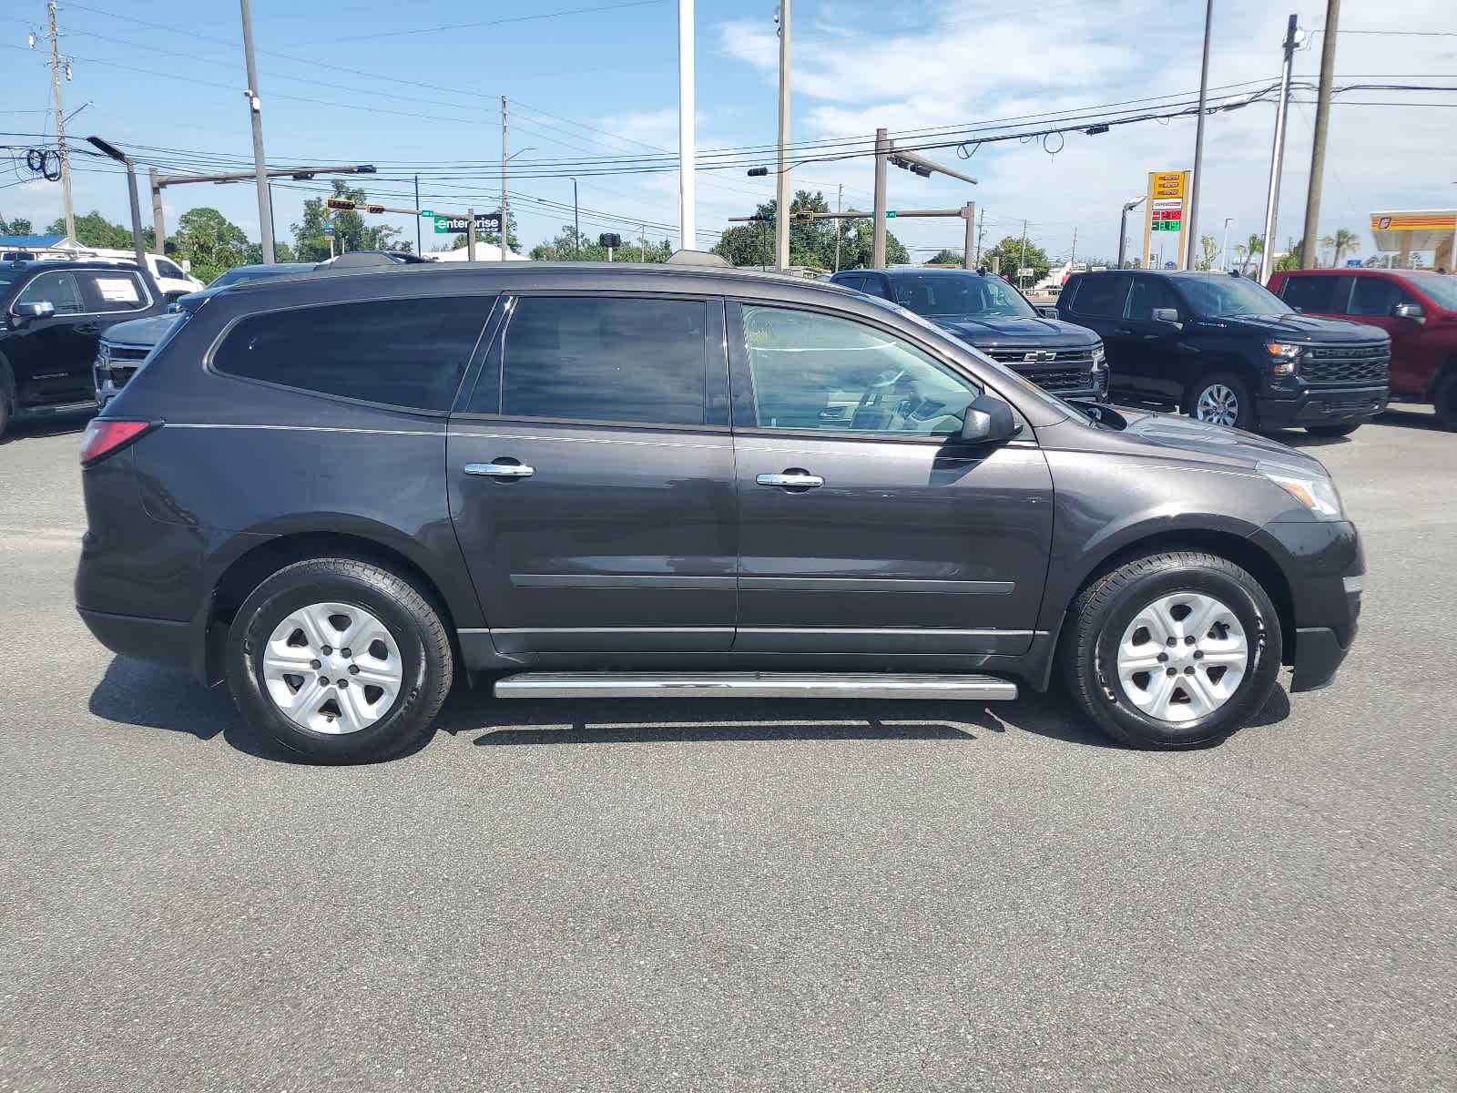
M 243 720 L 316 762 L 388 759 L 423 743 L 452 670 L 434 608 L 389 570 L 348 558 L 268 577 L 227 638 Z

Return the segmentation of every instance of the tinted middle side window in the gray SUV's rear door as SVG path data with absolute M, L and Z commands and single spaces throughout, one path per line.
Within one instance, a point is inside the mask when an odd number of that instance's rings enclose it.
M 523 296 L 501 351 L 501 414 L 704 424 L 702 300 Z

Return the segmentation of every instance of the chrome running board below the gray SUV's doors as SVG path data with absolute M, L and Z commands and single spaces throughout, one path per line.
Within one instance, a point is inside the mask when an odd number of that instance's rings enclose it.
M 1010 701 L 1017 685 L 973 675 L 877 672 L 522 672 L 497 698 L 979 698 Z

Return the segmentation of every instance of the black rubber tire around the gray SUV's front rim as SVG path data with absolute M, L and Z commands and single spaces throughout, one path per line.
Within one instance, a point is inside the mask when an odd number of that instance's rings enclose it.
M 1179 592 L 1202 592 L 1228 605 L 1244 630 L 1250 660 L 1222 705 L 1195 720 L 1167 721 L 1128 700 L 1116 654 L 1138 612 Z M 1180 551 L 1136 558 L 1084 589 L 1069 609 L 1061 660 L 1074 700 L 1113 739 L 1145 749 L 1201 748 L 1218 743 L 1265 705 L 1279 673 L 1281 640 L 1275 606 L 1254 577 L 1227 558 Z

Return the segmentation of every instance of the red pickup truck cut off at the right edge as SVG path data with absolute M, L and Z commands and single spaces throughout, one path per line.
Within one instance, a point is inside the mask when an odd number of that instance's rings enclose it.
M 1391 398 L 1431 402 L 1457 430 L 1457 277 L 1426 270 L 1288 270 L 1271 291 L 1307 315 L 1391 335 Z

